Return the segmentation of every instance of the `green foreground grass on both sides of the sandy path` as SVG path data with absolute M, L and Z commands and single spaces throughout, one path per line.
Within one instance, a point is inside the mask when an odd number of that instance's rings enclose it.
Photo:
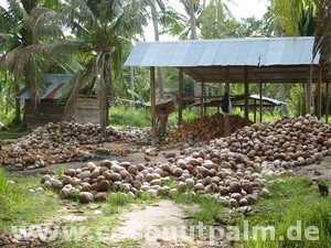
M 14 184 L 8 182 L 8 179 Z M 329 182 L 327 182 L 329 183 Z M 164 185 L 172 187 L 171 182 Z M 329 184 L 328 184 L 329 185 Z M 7 174 L 0 170 L 0 229 L 6 233 L 10 231 L 11 226 L 31 226 L 56 219 L 56 216 L 66 214 L 58 212 L 66 205 L 58 198 L 53 191 L 45 193 L 30 193 L 30 188 L 40 186 L 40 180 L 36 177 L 22 177 L 19 175 Z M 317 185 L 310 180 L 298 177 L 270 177 L 267 181 L 270 191 L 255 205 L 253 205 L 254 214 L 244 216 L 242 214 L 231 214 L 228 226 L 235 226 L 241 230 L 241 240 L 235 242 L 235 247 L 252 248 L 282 248 L 282 247 L 330 247 L 331 240 L 331 198 L 321 197 Z M 188 226 L 197 226 L 203 223 L 204 226 L 217 225 L 215 216 L 225 216 L 231 208 L 224 207 L 216 198 L 209 198 L 203 195 L 175 193 L 166 198 L 170 198 L 177 203 L 183 204 L 188 212 Z M 106 202 L 90 205 L 79 206 L 83 215 L 87 220 L 71 223 L 70 220 L 61 220 L 61 226 L 85 227 L 88 233 L 78 235 L 77 240 L 68 240 L 62 235 L 54 246 L 61 247 L 139 247 L 136 239 L 125 239 L 120 244 L 111 240 L 103 240 L 99 237 L 109 237 L 114 228 L 120 224 L 119 215 L 124 211 L 132 211 L 135 206 L 146 206 L 159 201 L 160 197 L 151 198 L 148 194 L 132 198 L 121 192 L 109 193 Z M 38 203 L 38 204 L 36 204 Z M 100 213 L 95 214 L 95 209 Z M 70 214 L 70 213 L 68 213 Z M 248 240 L 245 239 L 244 220 L 248 222 Z M 54 222 L 53 222 L 54 223 Z M 318 228 L 318 235 L 311 233 L 313 229 L 307 229 L 311 226 Z M 106 227 L 106 228 L 104 228 Z M 260 227 L 260 231 L 253 238 L 253 228 Z M 265 233 L 265 227 L 274 228 L 275 240 L 270 240 L 270 233 Z M 292 231 L 289 233 L 289 227 Z M 301 229 L 301 238 L 297 236 L 296 229 Z M 206 231 L 210 229 L 206 229 Z M 318 236 L 318 240 L 308 240 L 305 231 L 310 231 L 312 237 Z M 263 234 L 267 234 L 266 238 Z M 74 233 L 73 233 L 74 234 Z M 72 234 L 72 235 L 73 235 Z M 289 238 L 292 235 L 295 240 Z M 306 233 L 307 235 L 307 233 Z M 81 238 L 79 238 L 81 237 Z M 284 237 L 280 240 L 279 237 Z M 300 240 L 297 240 L 300 239 Z

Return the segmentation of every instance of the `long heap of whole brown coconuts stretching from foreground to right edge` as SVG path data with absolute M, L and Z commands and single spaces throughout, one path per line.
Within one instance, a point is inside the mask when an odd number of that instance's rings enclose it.
M 67 169 L 57 179 L 45 175 L 44 187 L 81 203 L 103 201 L 108 192 L 168 195 L 175 192 L 202 194 L 229 206 L 257 202 L 266 175 L 293 175 L 295 166 L 319 163 L 331 154 L 331 128 L 306 116 L 244 127 L 209 145 L 186 149 L 184 155 L 152 166 L 104 160 L 82 169 Z M 172 182 L 173 187 L 169 187 Z

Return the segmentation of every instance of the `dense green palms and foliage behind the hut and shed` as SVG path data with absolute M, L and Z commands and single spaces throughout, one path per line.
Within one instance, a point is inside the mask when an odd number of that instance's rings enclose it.
M 46 73 L 74 75 L 66 87 L 70 100 L 65 118 L 72 115 L 79 90 L 98 96 L 104 109 L 102 127 L 109 119 L 107 96 L 117 103 L 149 100 L 148 68 L 122 65 L 132 41 L 143 40 L 149 22 L 153 22 L 156 40 L 160 34 L 190 39 L 193 30 L 197 39 L 313 35 L 322 12 L 329 11 L 320 1 L 273 1 L 263 19 L 236 20 L 228 2 L 181 0 L 182 13 L 168 0 L 7 0 L 7 7 L 0 7 L 0 119 L 7 125 L 20 121 L 24 106 L 13 95 L 25 86 L 32 89 L 38 105 Z M 177 98 L 177 69 L 158 72 L 158 83 L 160 98 Z M 206 88 L 207 95 L 224 94 L 222 84 Z M 249 90 L 258 94 L 254 82 Z M 305 109 L 301 85 L 264 86 L 265 96 L 287 101 L 289 114 L 296 116 Z M 231 87 L 233 95 L 243 93 L 242 85 Z M 185 76 L 184 96 L 192 95 L 192 79 Z

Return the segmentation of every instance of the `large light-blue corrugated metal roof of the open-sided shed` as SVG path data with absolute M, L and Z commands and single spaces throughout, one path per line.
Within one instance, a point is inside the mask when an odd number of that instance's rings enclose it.
M 137 43 L 127 66 L 273 66 L 319 64 L 314 37 L 194 40 Z

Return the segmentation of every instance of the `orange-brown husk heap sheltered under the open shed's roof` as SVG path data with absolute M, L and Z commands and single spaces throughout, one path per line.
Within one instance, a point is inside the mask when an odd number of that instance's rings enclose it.
M 224 117 L 221 114 L 214 114 L 181 125 L 174 132 L 167 137 L 166 143 L 178 145 L 188 143 L 193 147 L 199 142 L 203 143 L 205 141 L 207 143 L 212 139 L 225 137 L 227 134 L 225 131 L 225 118 L 228 120 L 228 133 L 253 125 L 250 120 L 244 119 L 241 116 Z

